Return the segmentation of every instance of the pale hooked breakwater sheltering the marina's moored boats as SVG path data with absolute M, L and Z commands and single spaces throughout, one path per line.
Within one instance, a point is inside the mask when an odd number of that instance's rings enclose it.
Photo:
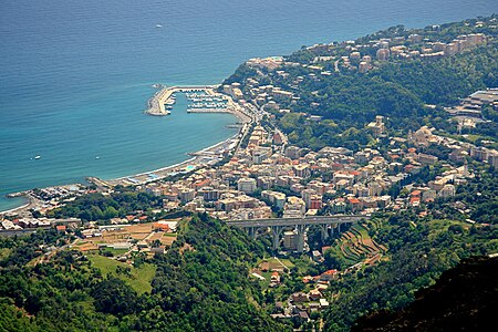
M 149 115 L 168 115 L 172 112 L 167 110 L 165 105 L 173 105 L 174 104 L 174 95 L 177 92 L 181 93 L 199 93 L 203 92 L 206 95 L 214 96 L 215 90 L 219 85 L 191 85 L 191 86 L 167 86 L 163 87 L 158 92 L 154 94 L 154 96 L 148 100 L 148 108 L 145 111 L 145 113 Z

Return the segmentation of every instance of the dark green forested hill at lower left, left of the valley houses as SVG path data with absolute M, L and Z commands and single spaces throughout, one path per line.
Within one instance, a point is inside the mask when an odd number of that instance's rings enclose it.
M 1 238 L 0 331 L 286 330 L 262 312 L 261 291 L 248 278 L 260 245 L 206 216 L 184 221 L 178 234 L 166 255 L 135 259 L 133 269 L 157 269 L 152 292 L 141 293 L 123 281 L 133 281 L 129 268 L 103 277 L 80 251 L 35 263 L 40 248 L 70 240 L 55 231 Z

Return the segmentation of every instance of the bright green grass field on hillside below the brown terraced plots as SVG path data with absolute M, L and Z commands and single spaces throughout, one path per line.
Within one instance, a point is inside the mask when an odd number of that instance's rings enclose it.
M 139 268 L 134 268 L 129 267 L 127 263 L 98 255 L 89 255 L 87 257 L 92 261 L 92 264 L 101 270 L 103 276 L 113 273 L 116 278 L 128 283 L 138 294 L 152 291 L 151 282 L 156 274 L 155 266 L 145 263 Z M 117 274 L 117 267 L 129 267 L 132 269 L 131 277 Z

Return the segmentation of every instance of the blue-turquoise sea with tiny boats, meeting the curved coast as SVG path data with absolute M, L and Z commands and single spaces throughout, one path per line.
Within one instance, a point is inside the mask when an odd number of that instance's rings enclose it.
M 156 169 L 236 134 L 234 116 L 185 103 L 145 115 L 155 83 L 220 83 L 250 58 L 494 12 L 496 0 L 2 0 L 0 210 L 23 204 L 8 193 Z

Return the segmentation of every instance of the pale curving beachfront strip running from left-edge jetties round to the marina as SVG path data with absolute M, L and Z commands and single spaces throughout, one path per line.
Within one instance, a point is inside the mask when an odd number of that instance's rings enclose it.
M 204 89 L 206 89 L 206 91 L 210 90 L 209 92 L 214 92 L 214 86 L 215 85 L 205 85 Z M 186 87 L 173 86 L 173 87 L 166 87 L 166 89 L 169 89 L 169 90 L 173 89 L 173 91 L 175 91 L 175 92 L 186 92 L 191 89 L 203 90 L 203 86 L 186 86 Z M 155 98 L 158 94 L 159 93 L 156 93 L 152 98 Z M 170 93 L 169 95 L 172 95 L 172 94 L 173 93 Z M 142 172 L 138 174 L 125 175 L 122 177 L 111 178 L 111 179 L 102 179 L 98 177 L 89 176 L 89 177 L 85 177 L 84 180 L 86 180 L 91 184 L 94 184 L 96 186 L 102 186 L 102 185 L 110 186 L 110 187 L 114 187 L 116 185 L 139 186 L 139 185 L 145 185 L 145 184 L 148 184 L 152 181 L 164 179 L 168 176 L 186 174 L 186 173 L 189 173 L 193 170 L 197 170 L 201 167 L 208 166 L 209 164 L 216 164 L 217 162 L 219 162 L 220 156 L 222 156 L 220 151 L 231 152 L 234 148 L 236 148 L 238 146 L 238 144 L 240 143 L 240 138 L 243 136 L 245 131 L 247 131 L 247 128 L 249 127 L 248 125 L 253 122 L 253 117 L 246 114 L 245 112 L 242 112 L 243 107 L 240 104 L 236 103 L 231 98 L 231 96 L 224 94 L 224 93 L 220 93 L 220 94 L 228 97 L 229 107 L 227 107 L 227 111 L 224 113 L 229 113 L 229 114 L 234 115 L 238 120 L 237 123 L 241 124 L 239 131 L 236 134 L 231 135 L 230 137 L 228 137 L 221 142 L 215 143 L 208 147 L 201 148 L 201 149 L 193 152 L 193 153 L 187 153 L 187 156 L 190 156 L 189 158 L 187 158 L 186 160 L 176 163 L 174 165 L 156 168 L 156 169 L 148 170 L 148 172 Z M 151 103 L 151 100 L 148 103 Z M 166 115 L 166 114 L 151 114 L 151 113 L 148 113 L 148 110 L 145 113 L 148 115 Z M 206 113 L 209 113 L 209 112 L 206 112 Z M 189 166 L 191 166 L 193 168 L 187 169 L 187 167 L 189 167 Z M 142 178 L 142 179 L 139 179 L 139 178 Z M 133 180 L 131 180 L 131 179 L 133 179 Z M 68 186 L 68 185 L 71 185 L 71 184 L 48 186 L 45 188 L 61 187 L 61 186 Z M 2 211 L 0 211 L 0 215 L 21 214 L 21 212 L 24 212 L 28 209 L 30 209 L 31 206 L 34 204 L 33 198 L 29 194 L 30 190 L 31 189 L 9 194 L 9 195 L 12 195 L 12 194 L 18 195 L 18 197 L 22 197 L 22 198 L 27 199 L 28 203 L 25 203 L 19 207 L 15 207 L 15 208 L 2 210 Z

